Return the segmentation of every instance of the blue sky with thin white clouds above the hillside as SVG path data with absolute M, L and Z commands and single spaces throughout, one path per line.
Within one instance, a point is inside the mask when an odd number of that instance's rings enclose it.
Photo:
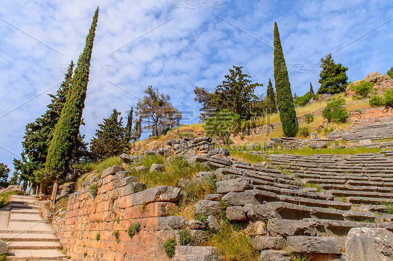
M 317 91 L 328 53 L 349 68 L 348 81 L 393 66 L 393 0 L 1 0 L 0 162 L 11 173 L 25 126 L 46 111 L 47 94 L 83 52 L 97 5 L 80 128 L 87 142 L 114 108 L 126 117 L 149 85 L 170 95 L 185 124 L 198 122 L 195 86 L 214 91 L 232 65 L 265 94 L 269 78 L 274 85 L 274 22 L 298 96 L 309 82 Z

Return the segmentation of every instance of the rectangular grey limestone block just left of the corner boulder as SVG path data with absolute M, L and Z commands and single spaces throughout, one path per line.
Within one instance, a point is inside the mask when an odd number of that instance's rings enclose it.
M 341 238 L 335 236 L 287 236 L 290 252 L 339 254 Z

